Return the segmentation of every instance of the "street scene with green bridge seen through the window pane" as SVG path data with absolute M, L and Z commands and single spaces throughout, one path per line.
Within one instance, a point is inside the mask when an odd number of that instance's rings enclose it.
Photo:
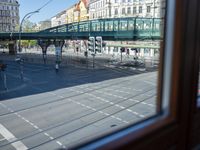
M 0 12 L 0 149 L 67 149 L 158 113 L 165 0 L 0 0 Z

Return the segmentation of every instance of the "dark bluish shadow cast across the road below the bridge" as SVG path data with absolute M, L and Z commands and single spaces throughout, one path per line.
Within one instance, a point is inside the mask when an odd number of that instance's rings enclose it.
M 105 64 L 104 66 L 101 65 L 102 60 L 96 62 L 95 68 L 88 67 L 81 61 L 77 61 L 76 64 L 66 63 L 66 61 L 63 61 L 58 72 L 55 71 L 53 63 L 44 65 L 26 61 L 23 66 L 24 81 L 21 81 L 20 66 L 14 61 L 14 57 L 9 56 L 9 59 L 4 60 L 8 66 L 6 70 L 8 90 L 4 91 L 3 87 L 0 87 L 0 100 L 52 92 L 85 84 L 95 87 L 95 85 L 92 85 L 93 83 L 148 72 L 146 70 L 123 68 L 123 66 L 112 65 L 109 67 L 107 65 L 105 67 Z M 151 71 L 155 71 L 155 69 Z M 3 80 L 0 79 L 0 84 L 2 85 L 2 83 Z

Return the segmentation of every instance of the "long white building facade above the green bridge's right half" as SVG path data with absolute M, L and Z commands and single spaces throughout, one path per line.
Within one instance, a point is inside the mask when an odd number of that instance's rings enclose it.
M 165 0 L 90 0 L 89 19 L 164 17 Z

